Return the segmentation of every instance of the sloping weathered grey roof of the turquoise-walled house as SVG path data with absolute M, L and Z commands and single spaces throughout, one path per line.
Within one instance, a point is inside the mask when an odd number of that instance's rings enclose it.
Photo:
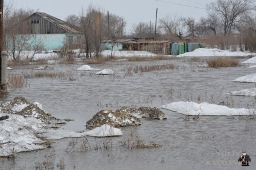
M 68 33 L 82 33 L 82 30 L 64 20 L 58 19 L 57 17 L 51 16 L 50 14 L 46 13 L 34 13 L 43 17 L 44 19 L 48 20 L 52 24 L 56 25 L 57 27 L 62 28 L 63 30 L 67 31 Z

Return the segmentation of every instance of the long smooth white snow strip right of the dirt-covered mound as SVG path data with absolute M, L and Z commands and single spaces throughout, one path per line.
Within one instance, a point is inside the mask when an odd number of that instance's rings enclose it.
M 209 104 L 202 102 L 172 102 L 167 105 L 162 105 L 163 109 L 173 110 L 184 115 L 212 115 L 212 116 L 239 116 L 239 115 L 255 115 L 254 109 L 234 109 L 225 105 Z

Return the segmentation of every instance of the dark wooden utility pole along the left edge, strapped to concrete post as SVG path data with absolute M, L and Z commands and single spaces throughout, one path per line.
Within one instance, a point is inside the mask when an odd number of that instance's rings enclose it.
M 4 33 L 4 0 L 0 0 L 0 56 L 3 50 L 3 33 Z M 2 57 L 0 57 L 0 84 L 2 82 Z M 1 90 L 2 88 L 0 88 Z

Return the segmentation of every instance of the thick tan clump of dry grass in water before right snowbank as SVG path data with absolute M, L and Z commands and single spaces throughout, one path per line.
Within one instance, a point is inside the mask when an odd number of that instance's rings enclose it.
M 218 57 L 206 61 L 210 68 L 229 68 L 240 64 L 237 58 Z

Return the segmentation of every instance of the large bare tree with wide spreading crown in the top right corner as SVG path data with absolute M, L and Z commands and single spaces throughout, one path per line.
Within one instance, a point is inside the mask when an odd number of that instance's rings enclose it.
M 241 16 L 254 10 L 252 0 L 217 0 L 206 6 L 209 13 L 216 13 L 223 27 L 224 36 L 231 33 L 233 27 L 242 22 Z

